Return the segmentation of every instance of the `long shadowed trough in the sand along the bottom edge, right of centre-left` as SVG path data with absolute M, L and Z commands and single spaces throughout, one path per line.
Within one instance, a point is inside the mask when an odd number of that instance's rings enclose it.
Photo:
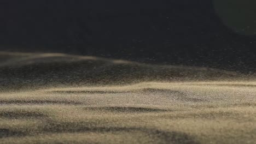
M 46 127 L 46 133 L 133 133 L 139 131 L 147 134 L 153 140 L 158 140 L 160 143 L 191 143 L 197 144 L 199 142 L 188 134 L 178 131 L 163 131 L 157 129 L 137 128 L 137 127 L 73 127 L 72 123 L 53 124 Z M 64 127 L 65 126 L 65 127 Z

